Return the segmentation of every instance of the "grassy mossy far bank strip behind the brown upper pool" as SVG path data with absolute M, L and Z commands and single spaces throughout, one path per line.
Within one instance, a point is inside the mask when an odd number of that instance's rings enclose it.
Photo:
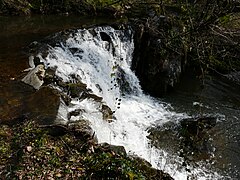
M 29 15 L 36 14 L 68 14 L 111 15 L 122 14 L 129 1 L 115 0 L 3 0 L 0 3 L 0 14 Z

